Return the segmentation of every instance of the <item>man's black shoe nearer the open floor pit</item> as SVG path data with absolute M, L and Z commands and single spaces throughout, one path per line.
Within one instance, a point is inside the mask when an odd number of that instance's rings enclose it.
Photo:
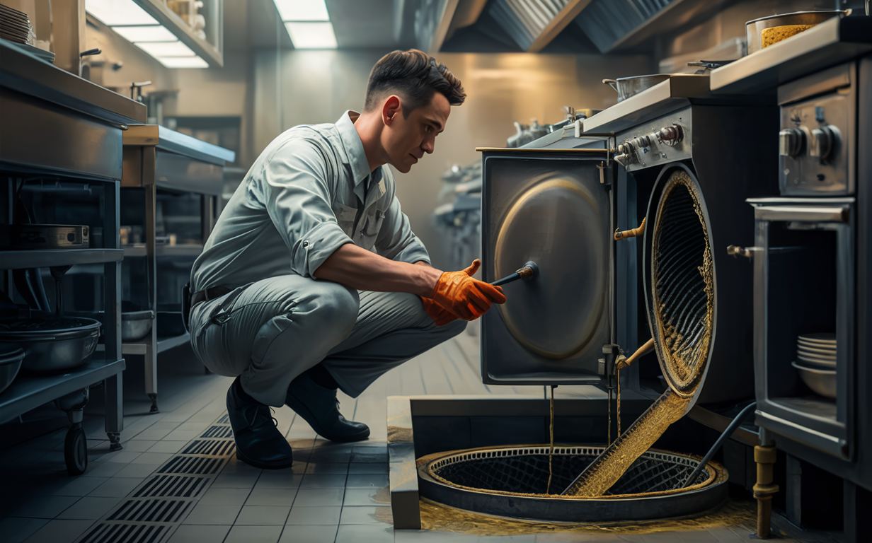
M 290 382 L 284 403 L 318 435 L 330 441 L 360 441 L 370 437 L 369 426 L 345 420 L 339 412 L 335 389 L 324 388 L 305 373 Z

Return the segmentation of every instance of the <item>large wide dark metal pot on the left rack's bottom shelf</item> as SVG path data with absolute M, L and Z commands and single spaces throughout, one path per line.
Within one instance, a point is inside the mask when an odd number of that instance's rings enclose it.
M 24 349 L 24 370 L 78 368 L 97 348 L 100 322 L 81 317 L 33 318 L 0 324 L 0 341 Z

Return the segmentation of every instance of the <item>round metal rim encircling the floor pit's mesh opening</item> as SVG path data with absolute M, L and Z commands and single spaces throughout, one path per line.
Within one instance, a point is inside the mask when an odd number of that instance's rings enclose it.
M 416 471 L 418 472 L 419 479 L 430 479 L 430 482 L 434 485 L 445 486 L 447 488 L 451 488 L 456 491 L 461 492 L 469 492 L 472 494 L 491 494 L 496 496 L 504 496 L 507 498 L 515 498 L 515 499 L 533 499 L 540 501 L 572 501 L 572 502 L 601 502 L 601 501 L 638 501 L 641 499 L 663 499 L 664 497 L 674 496 L 674 495 L 687 495 L 689 493 L 703 491 L 707 489 L 711 489 L 713 487 L 722 485 L 726 483 L 727 479 L 729 479 L 729 472 L 726 471 L 726 468 L 723 465 L 720 465 L 713 460 L 710 460 L 708 464 L 705 466 L 705 471 L 708 472 L 709 477 L 705 479 L 702 483 L 697 485 L 691 485 L 686 488 L 678 488 L 672 489 L 668 491 L 660 491 L 660 492 L 644 492 L 637 494 L 615 494 L 610 496 L 563 496 L 561 494 L 526 494 L 520 492 L 506 492 L 506 491 L 497 491 L 497 490 L 489 490 L 484 488 L 473 488 L 470 486 L 457 485 L 447 479 L 439 477 L 438 474 L 433 472 L 432 465 L 440 460 L 447 460 L 451 458 L 461 457 L 468 454 L 475 454 L 485 451 L 531 451 L 528 454 L 548 454 L 548 449 L 550 445 L 491 445 L 491 446 L 483 446 L 483 447 L 473 447 L 471 449 L 458 449 L 454 451 L 441 451 L 441 452 L 433 452 L 432 454 L 425 455 L 423 457 L 417 458 L 415 461 Z M 593 453 L 594 456 L 599 454 L 600 452 L 606 449 L 605 445 L 554 445 L 554 453 L 561 454 L 562 456 L 571 456 L 571 454 L 565 452 L 567 450 L 589 450 Z M 544 452 L 542 452 L 544 450 Z M 535 451 L 535 452 L 532 452 Z M 559 452 L 558 452 L 559 451 Z M 681 454 L 674 451 L 666 451 L 664 449 L 649 449 L 645 451 L 642 456 L 639 458 L 644 458 L 646 455 L 649 455 L 651 452 L 656 454 L 663 454 L 671 457 L 683 458 L 687 461 L 693 463 L 693 466 L 696 467 L 698 465 L 699 460 L 701 458 L 695 458 L 691 455 Z M 577 453 L 576 453 L 577 454 Z M 505 455 L 505 456 L 514 456 L 514 455 Z M 501 455 L 501 458 L 503 456 Z

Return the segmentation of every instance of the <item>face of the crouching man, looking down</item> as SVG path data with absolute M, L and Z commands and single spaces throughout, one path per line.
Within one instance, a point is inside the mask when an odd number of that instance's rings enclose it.
M 392 100 L 399 104 L 396 97 L 388 98 L 382 146 L 390 159 L 388 163 L 400 172 L 408 173 L 424 153 L 433 153 L 436 136 L 445 130 L 451 104 L 441 92 L 433 92 L 429 104 L 412 110 L 408 117 L 404 117 L 399 105 L 392 109 Z

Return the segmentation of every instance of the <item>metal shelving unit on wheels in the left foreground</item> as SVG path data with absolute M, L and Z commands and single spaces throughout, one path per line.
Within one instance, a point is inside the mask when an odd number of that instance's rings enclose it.
M 92 237 L 92 245 L 99 247 L 0 251 L 0 289 L 7 295 L 15 293 L 12 269 L 88 265 L 88 273 L 102 275 L 102 287 L 95 296 L 102 303 L 103 352 L 60 374 L 19 374 L 0 393 L 0 423 L 52 400 L 66 411 L 72 427 L 65 441 L 65 460 L 67 471 L 76 475 L 87 466 L 81 422 L 94 383 L 104 383 L 110 448 L 121 449 L 125 369 L 120 321 L 124 251 L 119 248 L 118 235 L 122 132 L 129 124 L 146 120 L 146 107 L 0 40 L 0 111 L 0 221 L 12 221 L 17 200 L 13 189 L 23 187 L 24 180 L 50 180 L 83 192 L 96 191 L 87 220 L 92 227 L 102 227 L 102 241 Z M 44 193 L 55 190 L 43 188 Z M 53 205 L 52 213 L 69 209 L 65 198 L 57 198 Z

